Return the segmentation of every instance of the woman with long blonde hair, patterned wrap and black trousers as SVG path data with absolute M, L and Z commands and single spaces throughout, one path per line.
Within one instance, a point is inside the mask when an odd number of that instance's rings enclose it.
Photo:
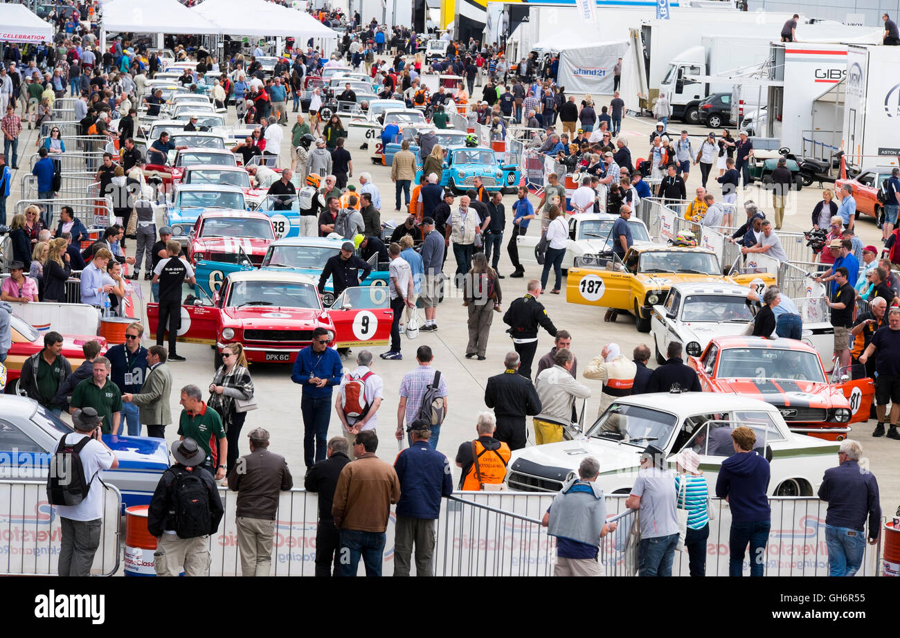
M 218 357 L 217 357 L 218 358 Z M 228 439 L 228 470 L 238 463 L 240 428 L 244 427 L 247 412 L 239 412 L 236 400 L 253 399 L 253 379 L 247 370 L 244 346 L 229 344 L 222 348 L 221 362 L 210 383 L 210 399 L 207 404 L 219 413 L 225 436 Z M 221 460 L 220 462 L 221 463 Z

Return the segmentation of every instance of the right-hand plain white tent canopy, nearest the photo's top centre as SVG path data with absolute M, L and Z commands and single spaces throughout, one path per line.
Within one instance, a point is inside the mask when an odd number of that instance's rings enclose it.
M 309 13 L 266 0 L 204 0 L 190 11 L 215 24 L 223 35 L 293 36 L 297 40 L 338 37 Z

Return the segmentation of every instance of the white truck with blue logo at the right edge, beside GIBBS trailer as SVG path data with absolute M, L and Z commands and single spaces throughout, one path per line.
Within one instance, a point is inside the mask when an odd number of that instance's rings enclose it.
M 848 166 L 900 157 L 900 57 L 894 47 L 847 50 L 843 150 Z

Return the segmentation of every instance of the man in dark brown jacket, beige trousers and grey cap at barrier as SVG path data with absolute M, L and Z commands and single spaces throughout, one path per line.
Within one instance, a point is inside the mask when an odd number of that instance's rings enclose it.
M 268 430 L 257 427 L 247 436 L 250 454 L 241 456 L 228 476 L 229 489 L 238 492 L 240 571 L 244 576 L 268 576 L 278 499 L 281 490 L 293 488 L 293 478 L 284 456 L 269 452 Z

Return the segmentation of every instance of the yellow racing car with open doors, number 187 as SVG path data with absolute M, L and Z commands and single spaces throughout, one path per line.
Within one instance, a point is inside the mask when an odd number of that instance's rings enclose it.
M 635 315 L 639 332 L 650 332 L 653 306 L 665 300 L 673 283 L 736 283 L 761 293 L 776 280 L 772 273 L 732 271 L 725 276 L 723 272 L 716 253 L 709 250 L 660 244 L 635 246 L 626 253 L 624 263 L 599 257 L 593 267 L 571 268 L 566 301 L 626 310 Z

